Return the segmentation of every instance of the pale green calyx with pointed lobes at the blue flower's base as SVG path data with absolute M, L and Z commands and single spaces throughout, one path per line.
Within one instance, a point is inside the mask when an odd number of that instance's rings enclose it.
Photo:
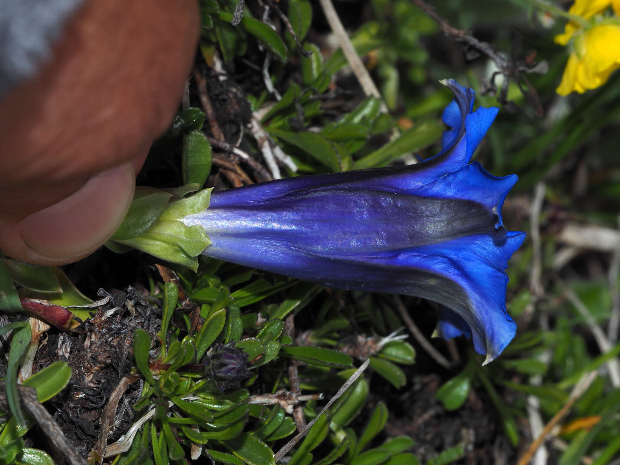
M 185 226 L 181 220 L 208 208 L 211 188 L 182 197 L 198 188 L 197 183 L 176 189 L 137 187 L 123 223 L 105 246 L 119 254 L 131 249 L 142 250 L 196 271 L 197 257 L 211 241 L 203 228 Z

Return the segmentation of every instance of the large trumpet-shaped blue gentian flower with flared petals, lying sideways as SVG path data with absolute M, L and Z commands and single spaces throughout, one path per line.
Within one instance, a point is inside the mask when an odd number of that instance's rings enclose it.
M 477 352 L 493 360 L 516 330 L 504 270 L 525 233 L 507 232 L 501 210 L 517 177 L 469 162 L 498 109 L 474 112 L 472 89 L 444 84 L 456 98 L 443 112 L 451 129 L 438 155 L 216 192 L 207 210 L 183 222 L 205 228 L 209 257 L 443 304 L 440 334 L 471 334 Z

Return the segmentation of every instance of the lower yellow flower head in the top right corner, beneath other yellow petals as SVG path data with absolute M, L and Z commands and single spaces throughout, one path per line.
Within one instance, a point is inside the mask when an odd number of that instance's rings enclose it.
M 575 38 L 574 49 L 556 89 L 560 95 L 602 86 L 620 68 L 620 25 L 601 24 Z

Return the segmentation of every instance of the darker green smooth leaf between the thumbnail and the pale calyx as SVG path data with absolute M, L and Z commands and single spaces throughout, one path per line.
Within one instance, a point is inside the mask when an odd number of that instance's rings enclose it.
M 149 229 L 166 210 L 172 194 L 150 187 L 136 187 L 131 206 L 110 239 L 126 241 Z

